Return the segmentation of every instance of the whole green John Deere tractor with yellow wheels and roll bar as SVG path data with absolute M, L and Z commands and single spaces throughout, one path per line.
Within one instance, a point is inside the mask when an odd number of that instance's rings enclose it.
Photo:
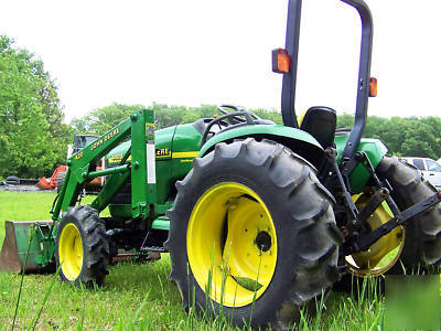
M 363 0 L 342 1 L 363 30 L 352 130 L 336 130 L 327 107 L 297 120 L 301 0 L 290 0 L 286 49 L 272 52 L 284 126 L 224 105 L 217 118 L 155 131 L 153 111 L 133 113 L 68 160 L 53 223 L 31 226 L 31 265 L 55 264 L 63 280 L 92 286 L 104 284 L 123 250 L 170 252 L 184 307 L 254 327 L 288 324 L 345 274 L 437 266 L 441 195 L 381 141 L 362 139 L 375 94 L 373 21 Z M 107 167 L 96 170 L 104 156 Z M 103 175 L 95 201 L 77 205 L 85 183 Z

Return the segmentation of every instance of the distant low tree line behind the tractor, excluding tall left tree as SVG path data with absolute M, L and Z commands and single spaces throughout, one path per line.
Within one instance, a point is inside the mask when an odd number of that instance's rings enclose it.
M 141 108 L 146 107 L 142 105 L 114 104 L 72 120 L 71 126 L 77 132 L 103 135 L 128 118 L 133 110 Z M 213 118 L 213 116 L 220 114 L 214 105 L 184 107 L 153 104 L 149 108 L 154 110 L 157 129 L 192 122 L 200 118 Z M 282 117 L 279 111 L 251 110 L 261 118 L 282 125 Z M 337 116 L 337 128 L 352 128 L 353 124 L 354 115 L 343 114 Z M 380 139 L 388 147 L 389 152 L 398 157 L 427 157 L 435 160 L 441 157 L 441 118 L 439 117 L 385 118 L 369 116 L 363 137 Z

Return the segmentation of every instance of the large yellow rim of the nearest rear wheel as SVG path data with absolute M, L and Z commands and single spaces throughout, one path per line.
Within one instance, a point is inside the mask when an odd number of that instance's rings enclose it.
M 260 196 L 239 183 L 219 183 L 198 199 L 189 221 L 186 248 L 198 286 L 223 306 L 252 303 L 275 274 L 271 215 Z

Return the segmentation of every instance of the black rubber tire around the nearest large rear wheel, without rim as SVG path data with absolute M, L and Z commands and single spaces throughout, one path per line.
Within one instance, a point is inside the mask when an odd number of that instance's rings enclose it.
M 220 309 L 211 299 L 206 302 L 204 289 L 193 276 L 186 232 L 202 194 L 213 185 L 232 181 L 254 190 L 267 205 L 276 228 L 278 256 L 272 279 L 254 305 Z M 251 327 L 280 328 L 299 318 L 299 307 L 337 280 L 338 245 L 343 238 L 335 225 L 333 197 L 310 163 L 286 147 L 250 138 L 219 143 L 214 151 L 193 161 L 193 170 L 176 188 L 174 206 L 168 213 L 170 233 L 165 247 L 172 264 L 170 279 L 176 282 L 185 309 L 194 295 L 197 311 L 209 307 L 237 325 L 252 317 Z

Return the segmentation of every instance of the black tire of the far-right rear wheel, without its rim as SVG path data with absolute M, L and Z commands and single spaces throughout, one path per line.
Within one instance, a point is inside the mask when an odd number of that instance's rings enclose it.
M 420 171 L 396 157 L 386 156 L 378 164 L 378 175 L 392 186 L 391 196 L 402 211 L 437 192 Z M 389 274 L 433 271 L 441 261 L 441 206 L 429 209 L 405 227 L 405 246 Z M 405 269 L 404 269 L 405 267 Z

